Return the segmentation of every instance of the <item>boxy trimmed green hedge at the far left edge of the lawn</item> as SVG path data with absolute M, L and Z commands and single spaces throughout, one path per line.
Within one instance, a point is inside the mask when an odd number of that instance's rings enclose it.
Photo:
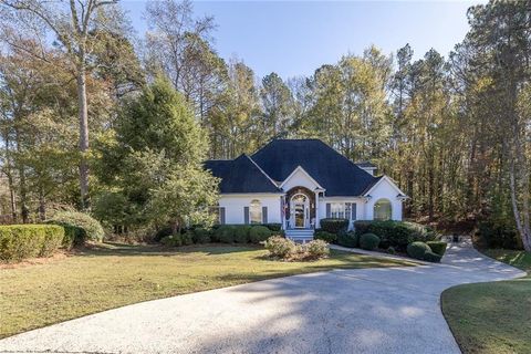
M 0 260 L 49 257 L 61 247 L 63 239 L 64 228 L 59 225 L 0 226 Z

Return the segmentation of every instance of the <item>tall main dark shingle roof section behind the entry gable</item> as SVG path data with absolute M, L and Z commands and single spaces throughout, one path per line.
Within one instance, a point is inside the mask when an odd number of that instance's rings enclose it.
M 251 158 L 274 180 L 304 168 L 326 196 L 361 196 L 377 178 L 319 139 L 274 139 Z

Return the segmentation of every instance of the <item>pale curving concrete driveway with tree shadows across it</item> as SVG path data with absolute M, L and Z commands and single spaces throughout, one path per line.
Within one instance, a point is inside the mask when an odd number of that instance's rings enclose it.
M 459 353 L 442 290 L 523 272 L 454 246 L 442 264 L 335 270 L 138 303 L 0 341 L 0 352 Z

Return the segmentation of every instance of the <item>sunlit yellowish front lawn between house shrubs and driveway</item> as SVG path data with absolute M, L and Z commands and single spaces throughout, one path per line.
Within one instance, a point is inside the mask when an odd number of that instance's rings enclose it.
M 282 262 L 256 247 L 168 250 L 105 243 L 42 264 L 0 269 L 0 337 L 140 301 L 263 279 L 414 264 L 340 251 L 314 262 Z

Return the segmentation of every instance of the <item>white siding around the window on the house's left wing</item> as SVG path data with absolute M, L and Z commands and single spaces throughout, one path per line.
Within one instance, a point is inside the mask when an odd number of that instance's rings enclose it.
M 243 208 L 251 200 L 260 200 L 262 207 L 268 207 L 268 222 L 281 222 L 279 195 L 222 195 L 219 206 L 225 207 L 225 223 L 244 223 Z

